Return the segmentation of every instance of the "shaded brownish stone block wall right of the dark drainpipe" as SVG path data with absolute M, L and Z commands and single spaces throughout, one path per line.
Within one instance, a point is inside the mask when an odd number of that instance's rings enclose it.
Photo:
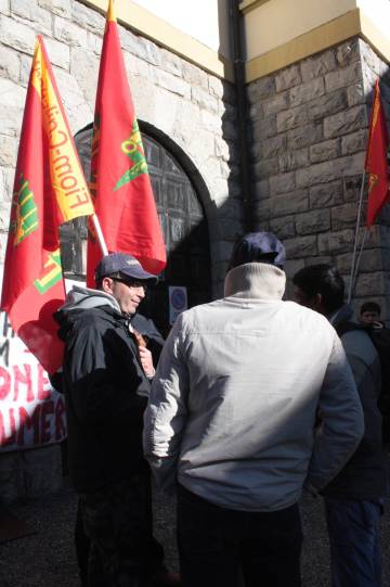
M 332 263 L 349 280 L 378 75 L 390 101 L 387 65 L 355 38 L 248 86 L 253 214 L 257 228 L 284 241 L 289 276 L 313 263 Z M 388 112 L 390 117 L 390 103 Z M 356 307 L 377 299 L 388 318 L 389 212 L 366 239 L 354 299 Z

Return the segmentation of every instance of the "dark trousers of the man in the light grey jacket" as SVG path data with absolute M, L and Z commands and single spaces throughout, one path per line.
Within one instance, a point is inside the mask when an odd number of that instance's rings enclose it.
M 183 587 L 299 587 L 298 506 L 274 512 L 220 508 L 178 488 Z

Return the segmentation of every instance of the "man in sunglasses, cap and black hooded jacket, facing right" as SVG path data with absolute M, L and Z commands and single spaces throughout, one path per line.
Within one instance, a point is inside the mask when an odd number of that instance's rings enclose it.
M 162 548 L 153 538 L 142 450 L 154 365 L 132 327 L 157 278 L 133 256 L 110 253 L 98 265 L 95 282 L 95 290 L 74 286 L 55 315 L 65 342 L 70 475 L 89 545 L 82 578 L 90 587 L 174 585 L 178 577 L 166 572 Z

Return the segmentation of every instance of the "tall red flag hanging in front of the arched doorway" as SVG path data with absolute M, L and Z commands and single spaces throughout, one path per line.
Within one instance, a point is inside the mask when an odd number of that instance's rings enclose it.
M 151 179 L 135 118 L 120 49 L 118 27 L 109 0 L 96 93 L 91 161 L 91 192 L 109 252 L 136 257 L 151 273 L 167 263 Z M 90 226 L 87 283 L 101 251 Z

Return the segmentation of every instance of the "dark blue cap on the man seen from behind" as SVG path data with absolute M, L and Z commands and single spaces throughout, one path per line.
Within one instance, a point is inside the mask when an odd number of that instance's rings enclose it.
M 283 269 L 286 251 L 272 232 L 248 232 L 234 246 L 229 269 L 246 263 L 268 263 Z

